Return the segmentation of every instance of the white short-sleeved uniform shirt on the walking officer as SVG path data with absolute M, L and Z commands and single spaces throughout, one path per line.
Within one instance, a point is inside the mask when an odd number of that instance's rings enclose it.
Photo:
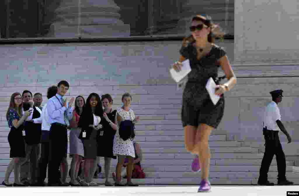
M 267 127 L 268 130 L 279 131 L 280 128 L 276 123 L 277 120 L 281 120 L 280 110 L 277 104 L 272 101 L 265 108 L 264 127 Z

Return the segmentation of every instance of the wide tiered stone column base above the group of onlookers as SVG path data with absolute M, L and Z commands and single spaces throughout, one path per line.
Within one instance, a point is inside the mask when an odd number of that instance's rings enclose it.
M 47 37 L 129 37 L 114 0 L 61 0 Z

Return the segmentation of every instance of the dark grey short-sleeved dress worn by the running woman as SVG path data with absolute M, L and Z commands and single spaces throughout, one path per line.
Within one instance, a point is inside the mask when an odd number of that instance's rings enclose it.
M 194 44 L 195 42 L 189 43 L 180 49 L 180 54 L 190 60 L 191 67 L 183 93 L 182 124 L 198 126 L 203 123 L 216 129 L 223 116 L 224 97 L 222 95 L 214 105 L 205 85 L 210 77 L 214 81 L 218 79 L 219 59 L 226 52 L 213 45 L 210 52 L 198 60 Z

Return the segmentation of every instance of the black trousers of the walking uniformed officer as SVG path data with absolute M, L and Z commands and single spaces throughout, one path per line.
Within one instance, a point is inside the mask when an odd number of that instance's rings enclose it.
M 264 183 L 268 180 L 268 172 L 273 156 L 276 156 L 278 181 L 286 180 L 286 156 L 283 153 L 278 133 L 274 135 L 274 140 L 266 141 L 265 153 L 260 167 L 259 182 Z

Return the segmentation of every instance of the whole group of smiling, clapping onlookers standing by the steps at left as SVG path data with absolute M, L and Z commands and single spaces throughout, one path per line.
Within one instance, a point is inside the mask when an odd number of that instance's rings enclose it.
M 48 168 L 48 186 L 98 186 L 92 181 L 97 169 L 97 160 L 105 160 L 105 186 L 138 186 L 135 178 L 144 178 L 140 166 L 142 151 L 133 143 L 135 118 L 131 106 L 132 96 L 123 94 L 123 106 L 112 109 L 113 99 L 109 94 L 100 96 L 91 93 L 85 99 L 77 96 L 69 101 L 65 94 L 67 81 L 60 81 L 47 91 L 48 101 L 42 104 L 42 94 L 23 91 L 13 93 L 6 118 L 10 127 L 10 161 L 2 182 L 5 186 L 45 186 Z M 74 102 L 74 108 L 72 104 Z M 67 149 L 72 158 L 68 172 Z M 109 182 L 111 159 L 118 158 L 115 183 Z M 127 183 L 122 184 L 122 167 L 126 167 Z M 14 183 L 9 183 L 14 171 Z M 70 182 L 66 182 L 67 173 Z M 81 174 L 80 174 L 81 173 Z M 80 174 L 80 175 L 79 175 Z M 29 180 L 30 179 L 30 180 Z

